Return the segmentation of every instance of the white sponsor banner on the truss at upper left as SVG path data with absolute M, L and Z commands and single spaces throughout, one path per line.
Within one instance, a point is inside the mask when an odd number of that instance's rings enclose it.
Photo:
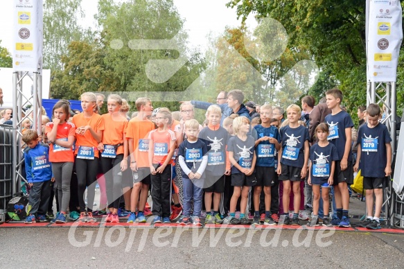
M 42 71 L 42 0 L 13 0 L 12 68 L 14 71 Z

